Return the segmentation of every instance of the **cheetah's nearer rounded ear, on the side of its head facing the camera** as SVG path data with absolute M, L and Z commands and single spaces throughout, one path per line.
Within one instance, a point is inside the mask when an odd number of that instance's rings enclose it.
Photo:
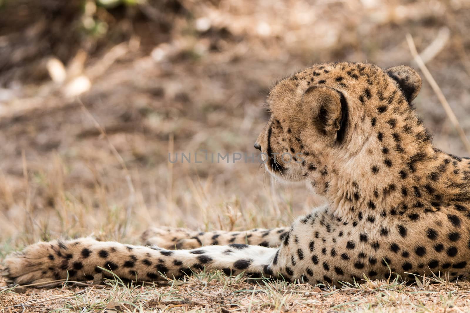
M 336 90 L 311 86 L 304 95 L 305 116 L 323 134 L 329 135 L 341 127 L 341 100 Z

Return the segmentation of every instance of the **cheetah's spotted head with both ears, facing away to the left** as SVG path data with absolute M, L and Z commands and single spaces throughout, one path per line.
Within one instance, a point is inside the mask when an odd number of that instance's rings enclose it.
M 271 90 L 271 117 L 255 148 L 267 170 L 287 181 L 312 180 L 309 172 L 322 175 L 326 167 L 351 170 L 358 159 L 360 167 L 370 168 L 364 162 L 388 167 L 392 161 L 384 165 L 384 154 L 398 160 L 400 153 L 414 153 L 418 142 L 429 140 L 410 106 L 420 88 L 420 76 L 407 66 L 313 66 Z

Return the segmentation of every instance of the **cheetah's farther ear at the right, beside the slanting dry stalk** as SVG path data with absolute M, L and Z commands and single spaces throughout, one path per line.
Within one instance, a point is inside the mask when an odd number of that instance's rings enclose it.
M 406 65 L 394 66 L 387 69 L 387 74 L 399 84 L 408 104 L 410 104 L 421 89 L 421 77 L 419 74 Z

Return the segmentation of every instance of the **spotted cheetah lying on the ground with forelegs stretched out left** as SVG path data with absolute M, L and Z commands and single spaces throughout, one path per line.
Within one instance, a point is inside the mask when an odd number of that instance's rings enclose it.
M 39 242 L 11 253 L 3 275 L 19 284 L 93 279 L 103 268 L 134 281 L 202 268 L 311 284 L 468 275 L 470 160 L 433 147 L 412 107 L 421 83 L 407 66 L 339 62 L 275 84 L 254 147 L 274 177 L 325 198 L 290 228 L 150 229 L 142 246 Z

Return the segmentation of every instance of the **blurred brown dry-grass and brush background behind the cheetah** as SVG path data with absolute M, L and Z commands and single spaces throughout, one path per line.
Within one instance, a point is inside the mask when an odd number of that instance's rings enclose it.
M 417 68 L 407 33 L 469 133 L 469 16 L 468 0 L 0 0 L 0 251 L 289 223 L 320 202 L 305 186 L 168 153 L 254 152 L 276 80 L 325 61 Z M 468 156 L 425 80 L 415 107 Z

